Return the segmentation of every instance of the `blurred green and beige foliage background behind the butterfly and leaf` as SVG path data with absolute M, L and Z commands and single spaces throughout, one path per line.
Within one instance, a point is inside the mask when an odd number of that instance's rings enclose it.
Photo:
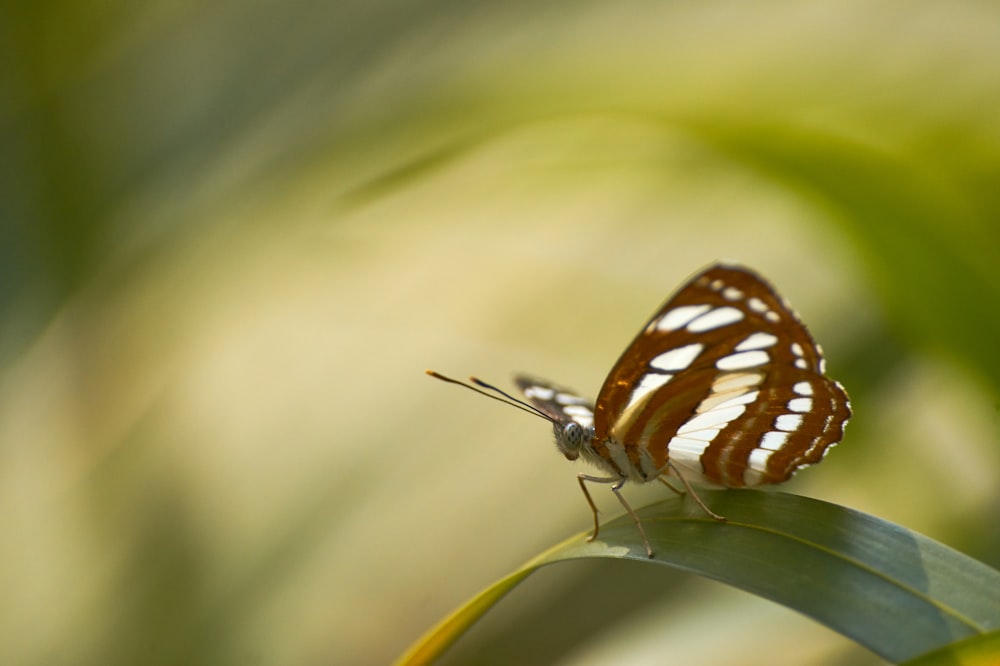
M 424 368 L 594 395 L 719 258 L 852 396 L 787 489 L 1000 566 L 995 3 L 7 3 L 0 54 L 0 663 L 390 660 L 590 525 Z M 450 661 L 880 663 L 649 569 Z

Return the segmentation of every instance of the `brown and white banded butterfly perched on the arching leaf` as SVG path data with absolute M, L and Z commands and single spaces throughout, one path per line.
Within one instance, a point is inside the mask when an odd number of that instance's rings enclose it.
M 691 483 L 730 488 L 787 481 L 840 441 L 851 416 L 844 389 L 825 376 L 820 346 L 788 303 L 759 275 L 716 264 L 684 284 L 653 315 L 611 368 L 597 403 L 555 384 L 518 375 L 518 400 L 482 380 L 474 386 L 552 423 L 569 460 L 583 457 L 604 476 L 653 549 L 621 488 L 676 477 L 719 520 Z M 479 388 L 477 388 L 479 387 Z M 485 390 L 483 390 L 485 389 Z M 487 392 L 489 391 L 489 392 Z M 504 400 L 506 398 L 506 400 Z

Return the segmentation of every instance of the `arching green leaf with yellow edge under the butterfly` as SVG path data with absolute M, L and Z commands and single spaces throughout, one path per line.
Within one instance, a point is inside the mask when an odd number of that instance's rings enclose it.
M 728 521 L 714 521 L 682 498 L 646 507 L 639 515 L 656 551 L 648 559 L 631 519 L 612 520 L 597 541 L 575 536 L 491 585 L 398 663 L 432 662 L 539 567 L 584 557 L 713 578 L 797 610 L 893 662 L 1000 629 L 1000 572 L 943 544 L 785 493 L 705 490 L 701 496 Z

